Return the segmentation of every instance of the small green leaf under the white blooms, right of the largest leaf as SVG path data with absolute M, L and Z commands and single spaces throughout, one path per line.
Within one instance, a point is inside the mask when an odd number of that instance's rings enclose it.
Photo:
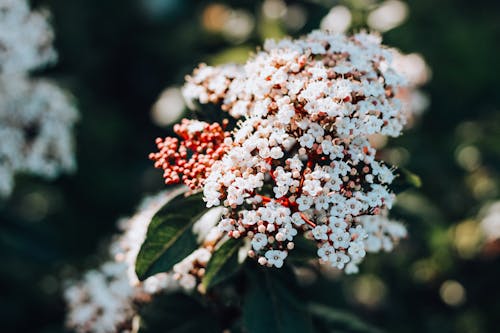
M 205 289 L 228 279 L 240 269 L 238 250 L 242 243 L 241 239 L 230 238 L 213 253 L 202 280 Z

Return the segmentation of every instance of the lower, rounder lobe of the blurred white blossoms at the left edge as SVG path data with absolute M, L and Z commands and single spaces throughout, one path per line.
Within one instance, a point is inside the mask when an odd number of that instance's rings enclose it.
M 66 93 L 46 80 L 0 78 L 0 196 L 16 173 L 48 179 L 74 170 L 73 124 L 78 118 Z

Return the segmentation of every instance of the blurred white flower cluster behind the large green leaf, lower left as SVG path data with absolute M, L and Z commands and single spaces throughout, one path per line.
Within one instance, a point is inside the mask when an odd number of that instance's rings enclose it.
M 203 267 L 211 257 L 211 249 L 221 237 L 214 227 L 220 210 L 210 210 L 195 223 L 193 232 L 202 247 L 171 272 L 156 274 L 142 282 L 135 274 L 135 259 L 152 217 L 169 200 L 185 191 L 180 188 L 146 198 L 137 214 L 119 222 L 123 233 L 110 245 L 113 259 L 87 272 L 81 281 L 71 282 L 65 291 L 69 327 L 77 332 L 127 332 L 136 314 L 136 303 L 147 302 L 159 292 L 189 292 L 198 285 Z

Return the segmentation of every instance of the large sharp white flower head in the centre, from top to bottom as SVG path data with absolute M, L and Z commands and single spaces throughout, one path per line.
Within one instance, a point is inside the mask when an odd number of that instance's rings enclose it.
M 364 216 L 391 208 L 394 175 L 368 137 L 401 134 L 406 116 L 395 96 L 405 79 L 380 42 L 315 31 L 268 41 L 243 67 L 202 65 L 187 78 L 187 98 L 242 118 L 204 199 L 226 208 L 219 229 L 251 239 L 260 264 L 281 267 L 305 233 L 324 262 L 354 267 L 370 246 Z

